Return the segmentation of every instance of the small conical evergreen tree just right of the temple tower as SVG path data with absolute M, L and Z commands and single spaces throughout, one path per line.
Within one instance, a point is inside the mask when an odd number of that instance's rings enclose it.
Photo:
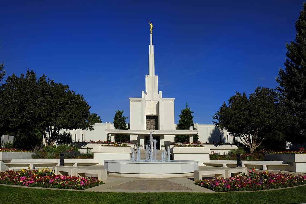
M 188 130 L 190 126 L 192 126 L 192 129 L 195 130 L 192 113 L 193 111 L 190 110 L 190 107 L 188 108 L 188 104 L 186 103 L 186 108 L 182 109 L 181 114 L 179 115 L 180 119 L 176 126 L 177 130 Z M 198 135 L 193 136 L 194 142 L 198 141 L 198 139 Z M 175 136 L 175 142 L 189 142 L 189 136 L 177 135 Z

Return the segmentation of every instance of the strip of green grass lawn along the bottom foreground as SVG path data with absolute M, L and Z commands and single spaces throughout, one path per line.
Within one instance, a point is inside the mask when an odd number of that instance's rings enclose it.
M 305 203 L 306 186 L 230 193 L 101 193 L 0 185 L 1 203 Z

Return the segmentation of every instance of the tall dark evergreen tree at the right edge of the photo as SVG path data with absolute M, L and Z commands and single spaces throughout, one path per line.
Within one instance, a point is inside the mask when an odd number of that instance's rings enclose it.
M 291 115 L 288 130 L 293 143 L 306 142 L 306 3 L 303 7 L 295 23 L 295 42 L 286 43 L 285 70 L 280 68 L 276 78 L 281 101 Z

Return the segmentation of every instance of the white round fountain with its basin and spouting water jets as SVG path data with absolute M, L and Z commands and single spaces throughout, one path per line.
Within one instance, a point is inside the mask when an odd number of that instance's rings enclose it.
M 131 160 L 104 160 L 104 167 L 110 175 L 122 177 L 185 177 L 193 176 L 193 171 L 199 169 L 198 161 L 188 160 L 170 160 L 170 146 L 168 148 L 168 157 L 166 150 L 162 152 L 162 160 L 156 160 L 156 140 L 153 140 L 150 132 L 150 144 L 146 144 L 146 159 L 140 161 L 140 149 L 137 148 L 135 161 L 135 152 L 132 152 Z

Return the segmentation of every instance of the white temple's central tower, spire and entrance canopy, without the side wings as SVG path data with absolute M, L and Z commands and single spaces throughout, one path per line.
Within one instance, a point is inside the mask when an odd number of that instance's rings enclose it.
M 154 45 L 152 33 L 149 45 L 149 75 L 146 75 L 146 91 L 142 91 L 141 98 L 130 99 L 130 129 L 106 129 L 108 134 L 129 134 L 133 144 L 144 146 L 149 143 L 149 134 L 152 132 L 157 140 L 158 148 L 161 145 L 173 144 L 175 135 L 192 136 L 197 130 L 175 130 L 174 98 L 163 98 L 158 91 L 158 76 L 155 75 Z

